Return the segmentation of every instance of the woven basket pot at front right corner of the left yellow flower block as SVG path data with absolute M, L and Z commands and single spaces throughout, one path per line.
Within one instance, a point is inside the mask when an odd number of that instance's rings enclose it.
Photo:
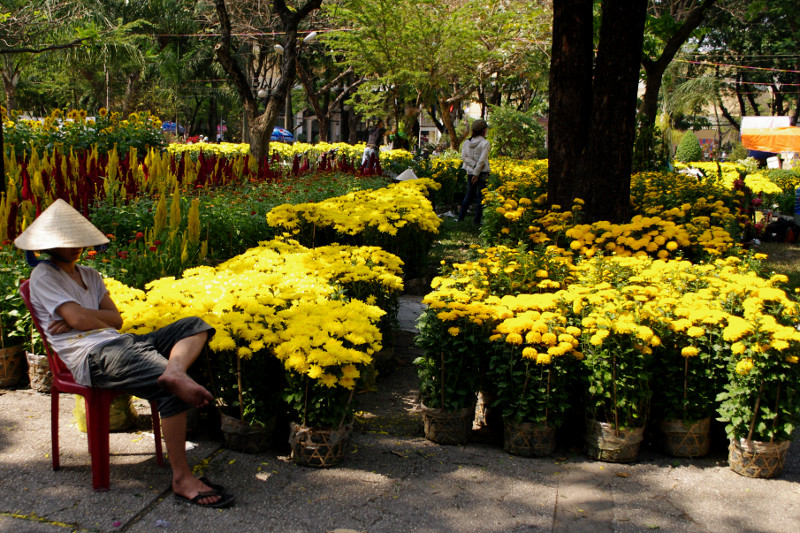
M 326 468 L 339 464 L 350 450 L 353 423 L 339 429 L 314 428 L 289 423 L 292 461 L 303 466 Z

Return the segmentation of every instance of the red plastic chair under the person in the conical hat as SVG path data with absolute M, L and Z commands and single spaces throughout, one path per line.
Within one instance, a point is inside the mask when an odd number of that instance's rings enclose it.
M 50 372 L 53 374 L 53 384 L 50 387 L 50 433 L 53 447 L 53 470 L 58 470 L 58 395 L 61 392 L 79 394 L 86 402 L 86 436 L 89 440 L 89 455 L 92 458 L 92 488 L 97 491 L 108 490 L 110 485 L 109 469 L 109 413 L 111 401 L 123 394 L 123 391 L 87 387 L 75 383 L 72 372 L 59 359 L 46 341 L 39 318 L 31 305 L 31 292 L 29 280 L 23 280 L 19 292 L 28 311 L 31 313 L 33 323 L 44 341 L 47 351 L 47 360 L 50 362 Z M 153 435 L 156 440 L 156 462 L 164 466 L 164 457 L 161 453 L 161 421 L 158 416 L 155 402 L 150 402 L 153 414 Z

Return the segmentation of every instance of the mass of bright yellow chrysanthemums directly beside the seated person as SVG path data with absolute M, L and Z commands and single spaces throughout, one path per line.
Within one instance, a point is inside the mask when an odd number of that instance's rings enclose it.
M 310 250 L 279 239 L 145 291 L 110 279 L 107 286 L 123 331 L 185 316 L 211 324 L 212 385 L 245 422 L 274 416 L 282 392 L 297 421 L 325 426 L 352 417 L 351 392 L 381 349 L 380 320 L 396 312 L 400 273 L 398 259 L 379 249 Z M 270 362 L 282 375 L 268 372 Z

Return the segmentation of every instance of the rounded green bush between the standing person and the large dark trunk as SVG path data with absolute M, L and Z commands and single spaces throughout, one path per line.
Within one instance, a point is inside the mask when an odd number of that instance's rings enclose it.
M 512 106 L 492 106 L 488 140 L 492 157 L 515 159 L 542 159 L 547 156 L 544 147 L 544 127 L 533 110 L 520 111 Z

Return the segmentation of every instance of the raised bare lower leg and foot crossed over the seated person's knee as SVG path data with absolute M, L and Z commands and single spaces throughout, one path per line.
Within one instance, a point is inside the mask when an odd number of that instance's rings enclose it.
M 205 407 L 214 396 L 186 373 L 195 362 L 208 339 L 203 331 L 178 341 L 169 353 L 167 369 L 158 378 L 158 385 L 193 407 Z

